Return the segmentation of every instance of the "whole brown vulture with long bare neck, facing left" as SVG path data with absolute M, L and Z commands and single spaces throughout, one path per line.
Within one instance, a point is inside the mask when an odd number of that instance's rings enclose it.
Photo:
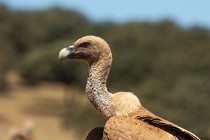
M 62 49 L 59 59 L 81 59 L 89 64 L 86 93 L 107 122 L 104 130 L 93 129 L 87 136 L 88 140 L 92 136 L 96 140 L 199 140 L 193 133 L 152 114 L 133 93 L 108 92 L 106 81 L 112 54 L 102 38 L 82 37 L 72 46 Z

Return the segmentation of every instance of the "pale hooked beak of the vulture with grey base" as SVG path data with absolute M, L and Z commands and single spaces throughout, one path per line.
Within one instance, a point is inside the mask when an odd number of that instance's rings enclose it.
M 59 61 L 62 62 L 64 59 L 70 58 L 70 55 L 74 52 L 74 45 L 67 48 L 63 48 L 58 55 Z

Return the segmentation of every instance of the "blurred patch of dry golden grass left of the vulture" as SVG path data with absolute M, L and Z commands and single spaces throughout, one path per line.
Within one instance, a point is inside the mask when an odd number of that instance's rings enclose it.
M 34 136 L 37 140 L 77 140 L 84 137 L 76 136 L 74 130 L 62 128 L 60 115 L 64 111 L 62 107 L 66 96 L 62 85 L 14 85 L 8 96 L 0 96 L 0 140 L 6 137 L 11 127 L 28 119 L 35 124 Z

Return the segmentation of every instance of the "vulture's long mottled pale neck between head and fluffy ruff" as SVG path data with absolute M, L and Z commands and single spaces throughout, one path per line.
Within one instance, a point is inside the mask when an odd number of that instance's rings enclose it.
M 113 115 L 111 93 L 106 87 L 107 77 L 112 63 L 111 55 L 90 64 L 86 93 L 90 102 L 100 114 L 109 118 Z

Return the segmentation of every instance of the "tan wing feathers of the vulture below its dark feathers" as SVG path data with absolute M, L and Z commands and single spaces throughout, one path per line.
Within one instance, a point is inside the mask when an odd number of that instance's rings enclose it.
M 104 140 L 175 140 L 170 133 L 133 117 L 110 118 L 104 129 Z

